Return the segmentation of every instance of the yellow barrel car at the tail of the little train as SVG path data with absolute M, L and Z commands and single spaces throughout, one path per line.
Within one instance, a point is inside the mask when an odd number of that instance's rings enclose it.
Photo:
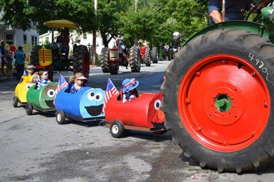
M 25 105 L 27 103 L 27 91 L 31 88 L 34 83 L 29 83 L 25 81 L 22 77 L 21 81 L 17 84 L 15 88 L 15 96 L 13 98 L 13 107 L 17 107 L 18 103 Z

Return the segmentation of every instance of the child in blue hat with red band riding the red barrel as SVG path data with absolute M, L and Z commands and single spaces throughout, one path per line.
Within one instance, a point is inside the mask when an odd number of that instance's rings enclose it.
M 137 81 L 135 78 L 124 79 L 122 83 L 123 103 L 127 101 L 133 101 L 138 97 L 138 92 L 136 90 L 136 87 L 138 87 L 138 85 L 139 81 Z

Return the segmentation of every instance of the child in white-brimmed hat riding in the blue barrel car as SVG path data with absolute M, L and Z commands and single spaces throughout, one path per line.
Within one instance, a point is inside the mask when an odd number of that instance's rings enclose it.
M 72 77 L 69 78 L 69 87 L 66 92 L 74 94 L 85 87 L 84 81 L 88 80 L 82 73 L 75 73 Z

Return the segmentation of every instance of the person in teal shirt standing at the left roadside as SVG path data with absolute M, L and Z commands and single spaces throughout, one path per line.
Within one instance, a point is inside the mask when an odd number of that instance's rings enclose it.
M 24 73 L 25 66 L 25 53 L 23 52 L 23 48 L 21 46 L 18 47 L 18 51 L 16 51 L 14 57 L 16 59 L 16 79 L 20 80 Z

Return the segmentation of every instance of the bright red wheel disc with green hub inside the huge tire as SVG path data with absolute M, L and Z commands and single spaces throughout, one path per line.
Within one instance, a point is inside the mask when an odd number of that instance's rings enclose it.
M 266 127 L 270 95 L 249 62 L 234 55 L 212 55 L 193 65 L 178 92 L 186 130 L 206 148 L 239 151 L 255 142 Z

